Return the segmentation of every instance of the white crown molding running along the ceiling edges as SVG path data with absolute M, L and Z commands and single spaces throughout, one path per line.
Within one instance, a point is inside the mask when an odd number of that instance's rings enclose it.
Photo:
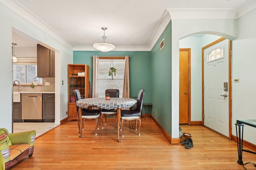
M 90 47 L 78 47 L 74 46 L 70 41 L 60 35 L 57 31 L 52 29 L 40 18 L 36 17 L 32 12 L 19 4 L 16 0 L 0 0 L 0 3 L 18 14 L 25 20 L 34 24 L 38 28 L 42 29 L 45 33 L 51 35 L 60 43 L 73 51 L 96 51 L 92 46 Z M 237 9 L 166 9 L 162 15 L 158 26 L 148 43 L 148 47 L 116 47 L 113 51 L 151 51 L 155 43 L 159 39 L 160 35 L 173 19 L 237 19 L 244 14 L 250 12 L 256 8 L 256 0 L 247 0 L 242 6 Z

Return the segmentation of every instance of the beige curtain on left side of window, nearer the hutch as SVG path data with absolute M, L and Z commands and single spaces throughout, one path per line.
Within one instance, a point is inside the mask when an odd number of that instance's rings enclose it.
M 93 59 L 93 74 L 92 74 L 92 98 L 98 98 L 98 63 L 99 57 L 96 55 L 92 56 Z

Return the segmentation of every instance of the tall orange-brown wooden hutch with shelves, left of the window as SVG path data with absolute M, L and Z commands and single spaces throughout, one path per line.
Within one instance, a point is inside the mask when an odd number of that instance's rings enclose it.
M 82 98 L 89 97 L 89 66 L 86 64 L 68 64 L 68 120 L 77 120 L 74 90 L 80 91 Z

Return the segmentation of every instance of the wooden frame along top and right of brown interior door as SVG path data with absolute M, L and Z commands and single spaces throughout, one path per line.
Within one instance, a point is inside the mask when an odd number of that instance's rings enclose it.
M 188 125 L 191 125 L 191 49 L 180 48 L 179 51 L 188 51 Z

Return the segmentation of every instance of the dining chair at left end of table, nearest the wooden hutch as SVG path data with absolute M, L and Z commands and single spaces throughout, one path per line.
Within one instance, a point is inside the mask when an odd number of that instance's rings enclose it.
M 75 95 L 76 101 L 81 99 L 81 94 L 80 94 L 80 91 L 78 89 L 74 90 L 74 95 Z M 79 107 L 76 106 L 76 109 L 77 109 L 77 114 L 78 114 Z M 82 108 L 82 117 L 80 117 L 79 114 L 78 114 L 78 129 L 79 129 L 78 134 L 81 133 L 81 131 L 80 131 L 80 121 L 82 121 L 82 130 L 84 130 L 84 121 L 86 121 L 86 120 L 95 120 L 96 121 L 95 135 L 97 135 L 97 129 L 99 129 L 98 128 L 98 117 L 99 116 L 100 116 L 100 109 L 85 109 L 85 108 Z

